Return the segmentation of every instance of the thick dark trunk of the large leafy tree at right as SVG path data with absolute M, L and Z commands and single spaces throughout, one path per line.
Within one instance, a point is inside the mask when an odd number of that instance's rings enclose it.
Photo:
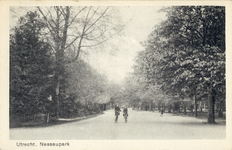
M 214 115 L 214 103 L 215 103 L 215 96 L 213 95 L 212 88 L 209 87 L 208 90 L 208 123 L 212 124 L 215 123 L 215 115 Z

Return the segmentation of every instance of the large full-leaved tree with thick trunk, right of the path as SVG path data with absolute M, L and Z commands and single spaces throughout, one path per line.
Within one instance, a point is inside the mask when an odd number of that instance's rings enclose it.
M 143 43 L 135 75 L 168 95 L 195 101 L 207 97 L 208 123 L 214 123 L 215 100 L 225 102 L 225 7 L 175 6 L 161 11 L 167 19 Z

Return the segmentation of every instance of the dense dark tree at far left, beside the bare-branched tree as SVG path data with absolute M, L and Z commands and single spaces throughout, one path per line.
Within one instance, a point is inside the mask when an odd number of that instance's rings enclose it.
M 51 47 L 41 37 L 45 23 L 36 12 L 18 23 L 10 35 L 10 112 L 32 115 L 44 111 L 47 103 Z

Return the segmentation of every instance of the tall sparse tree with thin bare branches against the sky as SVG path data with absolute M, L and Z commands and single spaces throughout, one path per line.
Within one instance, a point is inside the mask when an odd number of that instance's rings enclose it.
M 47 23 L 56 56 L 56 101 L 59 118 L 60 80 L 64 66 L 78 59 L 84 48 L 101 45 L 123 28 L 114 21 L 109 7 L 37 7 Z M 68 53 L 66 53 L 68 52 Z M 71 58 L 66 57 L 70 56 Z M 69 58 L 69 59 L 67 59 Z

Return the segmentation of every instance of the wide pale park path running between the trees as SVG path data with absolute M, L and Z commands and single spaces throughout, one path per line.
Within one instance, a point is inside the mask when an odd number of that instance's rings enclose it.
M 205 124 L 206 119 L 187 116 L 163 117 L 156 112 L 129 109 L 128 122 L 119 116 L 114 122 L 114 111 L 84 120 L 64 124 L 10 129 L 10 140 L 114 140 L 114 139 L 224 139 L 225 124 Z

